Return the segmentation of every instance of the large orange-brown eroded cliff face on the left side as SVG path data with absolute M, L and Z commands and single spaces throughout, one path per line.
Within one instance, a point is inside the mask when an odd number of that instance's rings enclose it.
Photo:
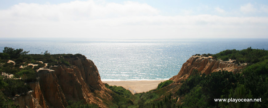
M 100 80 L 99 72 L 85 56 L 65 58 L 71 65 L 39 69 L 39 80 L 30 83 L 32 91 L 18 96 L 15 104 L 26 108 L 65 108 L 67 101 L 81 101 L 108 107 L 111 91 Z M 106 102 L 104 102 L 106 101 Z

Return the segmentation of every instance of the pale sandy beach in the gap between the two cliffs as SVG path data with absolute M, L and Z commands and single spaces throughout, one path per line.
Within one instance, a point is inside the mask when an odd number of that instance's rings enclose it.
M 102 81 L 108 85 L 122 86 L 129 90 L 132 94 L 147 92 L 152 89 L 156 89 L 160 82 L 166 80 L 154 80 L 154 81 Z

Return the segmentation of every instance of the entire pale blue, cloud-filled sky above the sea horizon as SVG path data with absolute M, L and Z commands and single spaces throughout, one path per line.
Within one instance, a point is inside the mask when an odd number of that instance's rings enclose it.
M 268 38 L 268 1 L 0 0 L 0 38 Z

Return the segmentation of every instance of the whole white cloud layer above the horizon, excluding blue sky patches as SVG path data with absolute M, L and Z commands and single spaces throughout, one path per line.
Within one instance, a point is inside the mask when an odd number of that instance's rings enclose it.
M 267 17 L 163 16 L 138 2 L 20 3 L 0 10 L 0 15 L 0 37 L 239 38 L 268 34 Z

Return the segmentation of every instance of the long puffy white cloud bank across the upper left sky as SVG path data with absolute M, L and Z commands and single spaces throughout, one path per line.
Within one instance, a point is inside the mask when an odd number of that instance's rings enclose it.
M 158 10 L 138 2 L 103 3 L 96 4 L 94 1 L 74 1 L 61 3 L 58 5 L 51 4 L 26 4 L 19 3 L 12 6 L 9 10 L 2 11 L 2 16 L 12 16 L 19 19 L 55 19 L 55 20 L 81 20 L 81 19 L 101 19 L 120 16 L 140 16 L 156 15 Z

